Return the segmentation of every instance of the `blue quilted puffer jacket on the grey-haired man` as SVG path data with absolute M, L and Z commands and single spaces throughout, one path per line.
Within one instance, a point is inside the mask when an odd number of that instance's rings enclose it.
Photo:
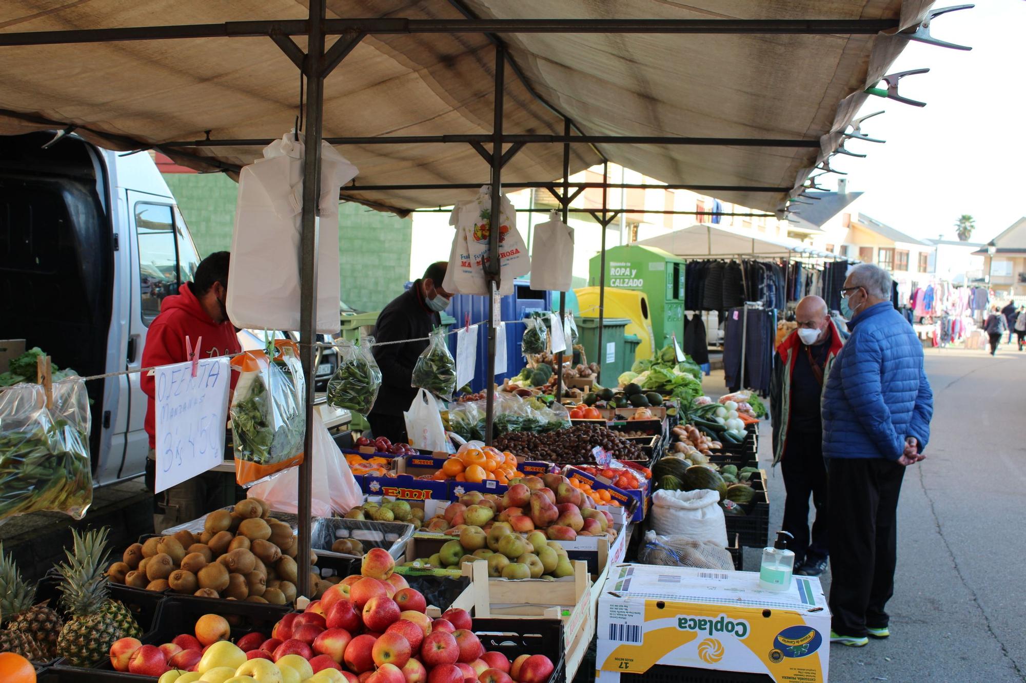
M 852 336 L 823 389 L 823 456 L 897 460 L 907 436 L 922 452 L 934 394 L 912 326 L 890 302 L 869 307 L 847 326 Z

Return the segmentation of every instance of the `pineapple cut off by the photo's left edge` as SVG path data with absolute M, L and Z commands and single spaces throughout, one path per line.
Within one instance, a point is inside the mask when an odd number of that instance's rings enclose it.
M 49 601 L 33 605 L 36 586 L 22 578 L 13 560 L 0 544 L 0 613 L 7 619 L 7 630 L 29 638 L 39 649 L 35 661 L 48 661 L 57 655 L 57 636 L 64 628 L 61 615 L 47 606 Z M 9 636 L 0 636 L 2 638 Z M 5 648 L 6 649 L 6 648 Z

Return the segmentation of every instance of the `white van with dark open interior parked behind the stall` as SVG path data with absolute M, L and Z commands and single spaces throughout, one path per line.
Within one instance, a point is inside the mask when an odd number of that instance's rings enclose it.
M 53 138 L 0 137 L 0 338 L 83 376 L 137 368 L 161 300 L 192 280 L 196 247 L 148 153 Z M 96 485 L 144 471 L 139 381 L 86 383 Z

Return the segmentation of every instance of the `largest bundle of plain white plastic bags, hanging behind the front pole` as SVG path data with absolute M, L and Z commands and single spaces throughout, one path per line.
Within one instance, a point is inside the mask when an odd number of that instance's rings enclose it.
M 286 133 L 239 173 L 226 308 L 237 327 L 300 328 L 304 144 Z M 317 331 L 339 331 L 339 188 L 357 169 L 321 143 Z M 283 255 L 285 256 L 283 258 Z

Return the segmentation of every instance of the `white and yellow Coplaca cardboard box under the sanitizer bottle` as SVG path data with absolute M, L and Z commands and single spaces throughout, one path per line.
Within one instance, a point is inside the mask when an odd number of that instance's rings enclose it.
M 745 571 L 611 567 L 598 599 L 595 680 L 662 665 L 826 683 L 830 610 L 819 579 L 794 576 L 782 593 L 758 581 Z

